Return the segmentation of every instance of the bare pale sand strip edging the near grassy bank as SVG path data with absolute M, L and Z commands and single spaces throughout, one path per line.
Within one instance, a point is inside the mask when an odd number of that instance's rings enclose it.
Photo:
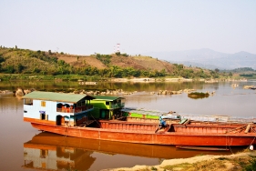
M 248 152 L 241 152 L 238 154 L 232 154 L 230 156 L 212 156 L 212 155 L 206 155 L 206 156 L 193 156 L 190 158 L 178 158 L 178 159 L 169 159 L 164 160 L 160 165 L 158 166 L 133 166 L 133 167 L 121 167 L 121 168 L 112 168 L 112 169 L 105 169 L 104 171 L 147 171 L 147 170 L 158 170 L 158 171 L 164 171 L 168 170 L 165 169 L 165 166 L 177 166 L 179 164 L 195 164 L 202 161 L 211 161 L 218 158 L 227 158 L 228 161 L 225 162 L 226 169 L 224 170 L 233 170 L 236 169 L 236 166 L 232 164 L 232 159 L 234 158 L 242 158 L 242 157 L 249 157 L 249 156 L 256 156 L 256 151 L 248 151 Z M 218 168 L 215 167 L 214 170 L 218 170 Z M 172 168 L 172 170 L 181 170 L 179 166 Z M 211 169 L 209 169 L 211 170 Z

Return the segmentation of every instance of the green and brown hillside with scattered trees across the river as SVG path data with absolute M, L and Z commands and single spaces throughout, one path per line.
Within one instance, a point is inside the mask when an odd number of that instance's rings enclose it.
M 112 55 L 67 55 L 50 50 L 32 51 L 28 49 L 0 46 L 0 73 L 36 75 L 99 75 L 102 77 L 130 76 L 182 76 L 185 78 L 216 77 L 215 71 L 198 67 L 170 64 L 151 56 Z

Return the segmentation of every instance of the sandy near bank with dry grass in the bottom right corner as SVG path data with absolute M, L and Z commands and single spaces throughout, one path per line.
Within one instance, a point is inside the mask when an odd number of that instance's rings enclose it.
M 256 156 L 256 151 L 241 152 L 230 156 L 194 156 L 190 158 L 179 158 L 164 160 L 159 166 L 133 166 L 106 169 L 105 171 L 150 171 L 150 170 L 242 170 L 243 166 L 250 165 L 251 156 Z

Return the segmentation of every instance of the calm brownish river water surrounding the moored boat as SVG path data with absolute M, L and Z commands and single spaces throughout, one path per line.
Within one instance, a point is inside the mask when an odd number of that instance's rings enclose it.
M 239 86 L 232 88 L 232 84 Z M 43 89 L 123 89 L 133 94 L 124 96 L 126 106 L 178 114 L 202 116 L 256 117 L 256 90 L 243 89 L 248 82 L 220 83 L 98 83 L 78 85 L 77 82 L 0 82 L 0 90 L 17 87 Z M 198 92 L 215 92 L 202 99 L 180 95 L 150 95 L 159 90 L 177 91 L 193 88 Z M 136 93 L 134 93 L 136 92 Z M 119 95 L 123 96 L 123 95 Z M 164 159 L 186 158 L 212 154 L 230 155 L 245 147 L 230 151 L 182 150 L 175 146 L 152 146 L 90 140 L 41 133 L 23 122 L 23 100 L 12 93 L 0 94 L 0 170 L 101 170 L 136 165 L 159 165 Z

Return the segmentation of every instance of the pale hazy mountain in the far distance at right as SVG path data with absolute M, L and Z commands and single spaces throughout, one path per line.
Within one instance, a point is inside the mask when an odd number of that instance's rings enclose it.
M 150 55 L 171 63 L 199 66 L 208 69 L 235 69 L 239 67 L 251 67 L 256 69 L 256 55 L 248 52 L 225 54 L 210 49 L 173 51 L 173 52 L 151 52 Z

